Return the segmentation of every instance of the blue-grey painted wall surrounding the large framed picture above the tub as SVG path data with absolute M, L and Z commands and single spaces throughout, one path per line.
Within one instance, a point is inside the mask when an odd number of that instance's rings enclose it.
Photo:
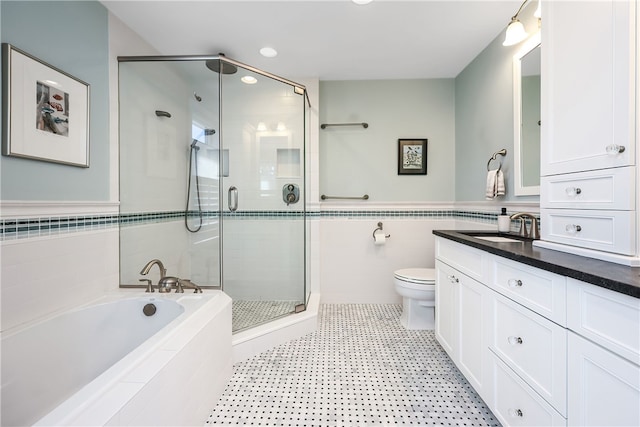
M 0 157 L 0 198 L 109 199 L 108 13 L 95 1 L 0 2 L 3 43 L 89 83 L 90 167 Z

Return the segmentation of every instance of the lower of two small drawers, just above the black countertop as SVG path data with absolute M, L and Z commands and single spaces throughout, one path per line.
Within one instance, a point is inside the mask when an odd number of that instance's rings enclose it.
M 623 255 L 635 254 L 633 211 L 541 209 L 543 240 Z

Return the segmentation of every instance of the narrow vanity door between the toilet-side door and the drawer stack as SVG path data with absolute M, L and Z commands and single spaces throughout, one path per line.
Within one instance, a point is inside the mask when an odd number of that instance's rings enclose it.
M 468 276 L 459 277 L 458 286 L 458 360 L 456 364 L 478 394 L 486 388 L 488 292 L 484 285 Z

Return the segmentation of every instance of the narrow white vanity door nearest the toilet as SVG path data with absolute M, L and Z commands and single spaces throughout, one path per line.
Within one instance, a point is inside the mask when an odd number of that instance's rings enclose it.
M 458 346 L 458 283 L 460 276 L 447 264 L 436 260 L 436 339 L 449 357 L 456 360 Z

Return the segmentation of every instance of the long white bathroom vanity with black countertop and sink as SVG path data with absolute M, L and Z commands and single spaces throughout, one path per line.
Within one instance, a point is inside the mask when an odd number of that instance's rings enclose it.
M 640 425 L 640 268 L 433 233 L 436 338 L 503 425 Z

